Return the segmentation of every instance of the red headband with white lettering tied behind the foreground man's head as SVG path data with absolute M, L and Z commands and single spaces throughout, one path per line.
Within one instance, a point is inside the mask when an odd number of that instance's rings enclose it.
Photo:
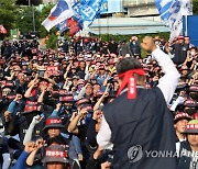
M 140 69 L 133 69 L 133 70 L 129 70 L 129 71 L 118 75 L 119 78 L 123 78 L 123 80 L 122 80 L 122 84 L 117 93 L 117 97 L 120 95 L 120 92 L 128 84 L 128 99 L 136 98 L 136 81 L 133 77 L 134 74 L 143 76 L 143 75 L 145 75 L 145 71 L 140 68 Z

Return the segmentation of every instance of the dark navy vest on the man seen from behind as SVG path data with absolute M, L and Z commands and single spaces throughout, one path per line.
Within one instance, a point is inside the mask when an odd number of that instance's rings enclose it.
M 173 116 L 162 91 L 138 88 L 136 95 L 129 100 L 124 92 L 103 110 L 112 132 L 113 169 L 176 169 L 176 157 L 155 157 L 156 151 L 175 153 Z

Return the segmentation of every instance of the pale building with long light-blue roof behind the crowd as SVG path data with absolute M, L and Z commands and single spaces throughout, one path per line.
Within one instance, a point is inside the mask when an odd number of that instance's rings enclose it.
M 121 2 L 119 10 L 110 10 L 110 4 L 113 7 L 116 2 Z M 122 12 L 124 15 L 119 18 L 113 14 L 109 18 L 97 19 L 90 26 L 91 33 L 129 35 L 168 32 L 160 18 L 154 0 L 108 0 L 108 3 L 109 11 Z

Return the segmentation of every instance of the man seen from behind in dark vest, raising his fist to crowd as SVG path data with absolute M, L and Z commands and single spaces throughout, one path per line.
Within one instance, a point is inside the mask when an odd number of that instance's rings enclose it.
M 179 74 L 152 37 L 144 37 L 142 47 L 152 53 L 165 75 L 157 87 L 145 89 L 144 71 L 138 59 L 119 63 L 118 98 L 103 109 L 97 140 L 99 147 L 113 149 L 113 169 L 175 169 L 175 158 L 153 158 L 147 153 L 175 153 L 173 116 L 166 103 L 173 97 Z

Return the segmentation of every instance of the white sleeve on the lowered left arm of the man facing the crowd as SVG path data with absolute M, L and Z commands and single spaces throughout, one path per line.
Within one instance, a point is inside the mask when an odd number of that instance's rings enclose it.
M 113 144 L 111 143 L 111 129 L 105 116 L 102 116 L 100 131 L 97 135 L 97 143 L 99 147 L 103 149 L 112 149 L 113 147 Z

